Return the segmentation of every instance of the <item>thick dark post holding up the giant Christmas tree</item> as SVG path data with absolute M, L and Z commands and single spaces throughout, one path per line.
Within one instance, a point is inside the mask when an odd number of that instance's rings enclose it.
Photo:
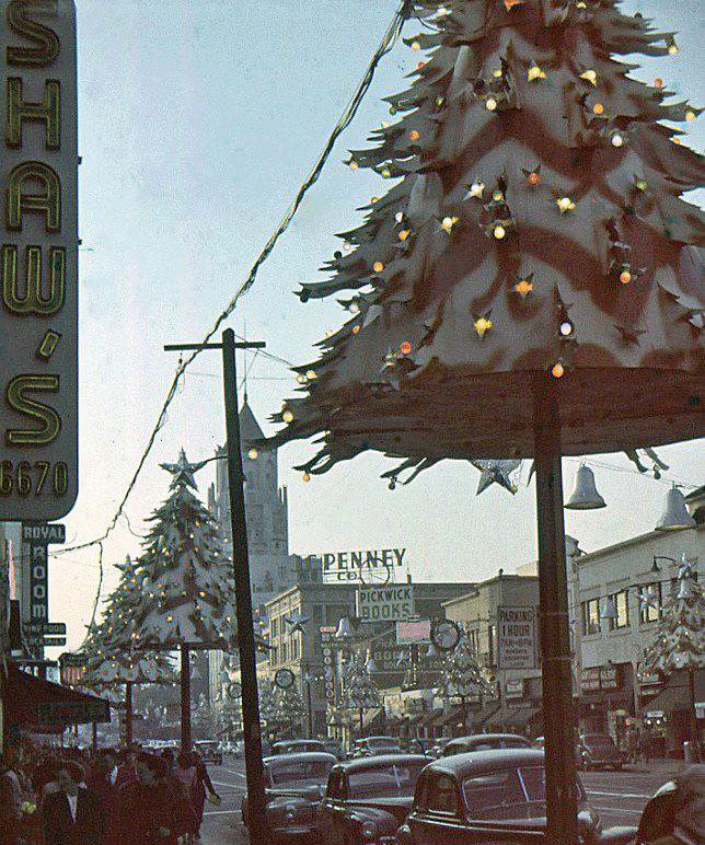
M 552 845 L 578 845 L 557 389 L 556 381 L 547 374 L 533 384 L 546 822 Z

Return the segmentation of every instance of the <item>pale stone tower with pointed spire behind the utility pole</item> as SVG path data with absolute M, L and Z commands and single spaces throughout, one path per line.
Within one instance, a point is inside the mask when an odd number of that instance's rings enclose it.
M 250 407 L 245 392 L 240 409 L 240 439 L 245 474 L 245 519 L 250 549 L 250 577 L 255 610 L 291 587 L 296 572 L 289 567 L 289 525 L 287 488 L 279 487 L 277 452 L 257 453 L 251 443 L 264 432 Z M 226 454 L 220 448 L 217 454 Z M 230 493 L 226 461 L 217 462 L 216 483 L 208 491 L 208 505 L 222 525 L 229 552 L 232 552 Z

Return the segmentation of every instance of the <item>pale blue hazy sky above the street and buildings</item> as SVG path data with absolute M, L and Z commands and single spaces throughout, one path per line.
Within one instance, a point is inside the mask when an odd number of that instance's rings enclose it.
M 164 343 L 201 339 L 245 277 L 262 245 L 347 104 L 397 0 L 77 0 L 79 24 L 81 309 L 81 473 L 65 520 L 69 539 L 103 532 L 124 494 L 172 380 Z M 627 2 L 664 30 L 681 53 L 644 62 L 638 76 L 702 104 L 702 3 Z M 418 30 L 407 25 L 406 35 Z M 379 177 L 343 164 L 386 117 L 380 99 L 406 86 L 419 54 L 400 45 L 382 63 L 354 126 L 338 142 L 296 222 L 242 300 L 230 324 L 291 361 L 344 313 L 302 305 L 292 291 L 317 274 L 360 220 L 356 207 L 381 193 Z M 636 59 L 635 60 L 640 60 Z M 703 120 L 691 142 L 702 149 Z M 242 370 L 242 361 L 240 362 Z M 251 362 L 251 405 L 267 416 L 291 395 L 287 368 Z M 223 440 L 220 358 L 206 352 L 169 413 L 127 513 L 139 532 L 165 497 L 160 461 L 210 456 Z M 478 474 L 444 462 L 393 493 L 375 455 L 339 464 L 311 484 L 291 466 L 310 447 L 279 454 L 289 487 L 290 547 L 319 551 L 405 546 L 417 580 L 476 580 L 536 556 L 535 490 L 496 486 L 475 497 Z M 669 476 L 703 483 L 702 441 L 660 450 Z M 596 456 L 628 470 L 622 455 Z M 577 462 L 564 462 L 566 493 Z M 525 464 L 525 482 L 529 464 Z M 609 508 L 566 513 L 566 530 L 591 551 L 650 530 L 667 486 L 631 472 L 597 468 Z M 199 475 L 205 496 L 212 474 Z M 109 564 L 137 553 L 120 522 L 105 545 Z M 97 584 L 96 552 L 55 558 L 50 614 L 77 645 Z M 108 572 L 105 590 L 115 583 Z

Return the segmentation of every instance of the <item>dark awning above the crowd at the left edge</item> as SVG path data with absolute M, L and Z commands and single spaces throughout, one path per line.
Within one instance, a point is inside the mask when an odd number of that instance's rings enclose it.
M 2 699 L 9 725 L 59 730 L 111 720 L 109 703 L 103 698 L 35 678 L 12 663 L 2 681 Z

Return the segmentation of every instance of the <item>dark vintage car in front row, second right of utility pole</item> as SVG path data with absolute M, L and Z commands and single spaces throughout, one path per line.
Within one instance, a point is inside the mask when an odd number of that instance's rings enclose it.
M 427 764 L 423 754 L 380 754 L 334 766 L 321 803 L 325 845 L 393 843 Z

